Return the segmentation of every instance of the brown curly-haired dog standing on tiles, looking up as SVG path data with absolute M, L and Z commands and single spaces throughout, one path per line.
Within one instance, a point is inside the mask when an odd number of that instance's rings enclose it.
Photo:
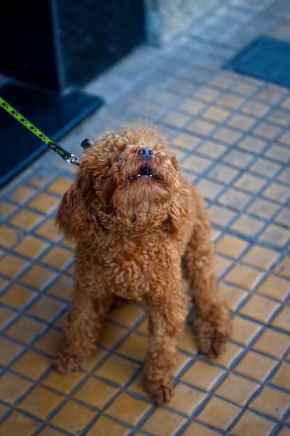
M 200 194 L 181 177 L 156 131 L 138 127 L 86 148 L 56 222 L 76 242 L 74 297 L 57 370 L 67 374 L 86 364 L 114 303 L 140 302 L 148 317 L 147 391 L 162 405 L 172 396 L 170 369 L 187 314 L 182 277 L 200 350 L 218 356 L 232 331 L 216 293 L 211 227 Z

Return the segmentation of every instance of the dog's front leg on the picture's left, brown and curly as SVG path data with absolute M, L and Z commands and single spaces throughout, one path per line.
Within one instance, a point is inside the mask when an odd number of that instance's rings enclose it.
M 55 362 L 59 373 L 70 374 L 86 364 L 111 302 L 111 297 L 93 300 L 86 293 L 74 293 Z

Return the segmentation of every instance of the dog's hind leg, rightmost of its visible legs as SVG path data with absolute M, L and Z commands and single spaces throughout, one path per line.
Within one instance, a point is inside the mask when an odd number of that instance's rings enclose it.
M 214 246 L 210 240 L 210 225 L 204 211 L 193 229 L 182 258 L 184 278 L 193 302 L 193 325 L 200 350 L 209 357 L 223 352 L 232 333 L 229 309 L 216 292 L 213 260 Z

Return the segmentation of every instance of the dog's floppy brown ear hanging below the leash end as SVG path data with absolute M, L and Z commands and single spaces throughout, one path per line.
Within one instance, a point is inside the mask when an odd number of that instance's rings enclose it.
M 92 175 L 88 169 L 81 168 L 56 212 L 56 225 L 65 238 L 72 241 L 90 238 L 96 226 L 93 196 Z

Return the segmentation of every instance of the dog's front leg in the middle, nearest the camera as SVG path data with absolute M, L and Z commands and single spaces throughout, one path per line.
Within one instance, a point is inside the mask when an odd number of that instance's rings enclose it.
M 170 295 L 171 299 L 168 298 Z M 176 364 L 177 339 L 186 318 L 186 297 L 181 291 L 173 295 L 166 290 L 160 301 L 148 301 L 145 311 L 149 331 L 146 387 L 156 404 L 163 405 L 173 394 L 170 370 Z

